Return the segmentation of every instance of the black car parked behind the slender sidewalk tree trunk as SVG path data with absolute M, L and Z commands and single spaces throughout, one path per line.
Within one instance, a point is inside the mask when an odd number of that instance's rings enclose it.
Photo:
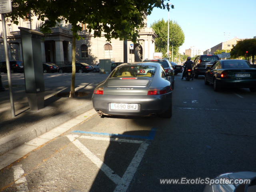
M 76 72 L 83 73 L 83 72 L 90 72 L 93 70 L 91 65 L 88 65 L 83 62 L 76 62 Z M 58 70 L 59 73 L 71 73 L 72 72 L 72 64 L 68 64 L 67 66 L 60 67 Z

